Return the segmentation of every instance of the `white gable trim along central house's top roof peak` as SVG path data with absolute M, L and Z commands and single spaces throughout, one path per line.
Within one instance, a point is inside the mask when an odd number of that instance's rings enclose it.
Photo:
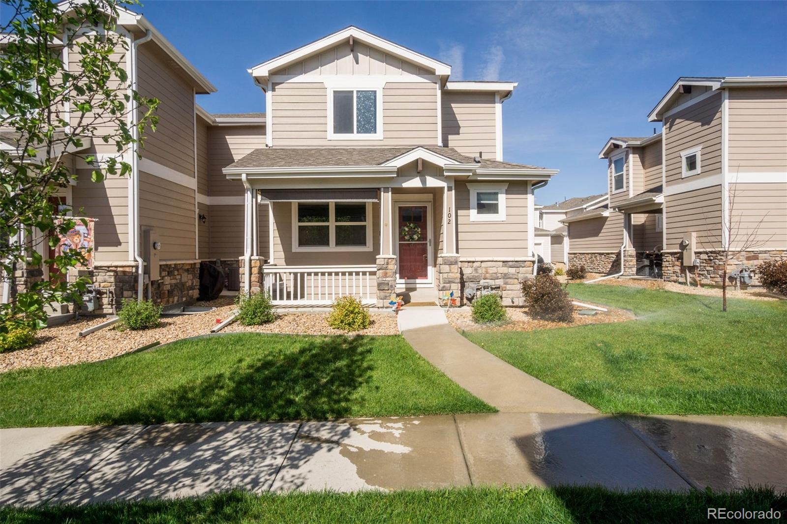
M 305 57 L 311 56 L 312 54 L 320 53 L 320 51 L 328 47 L 334 46 L 339 42 L 349 39 L 350 36 L 353 37 L 353 40 L 363 42 L 379 50 L 383 50 L 386 53 L 393 54 L 397 57 L 404 58 L 406 61 L 410 61 L 417 65 L 421 65 L 424 68 L 433 70 L 435 75 L 451 74 L 450 65 L 434 60 L 434 58 L 427 57 L 426 55 L 416 53 L 416 51 L 409 50 L 404 46 L 390 42 L 390 40 L 382 39 L 379 36 L 372 35 L 363 29 L 356 28 L 355 26 L 349 26 L 349 28 L 336 31 L 335 33 L 327 35 L 322 39 L 316 40 L 315 42 L 298 47 L 295 50 L 291 50 L 285 54 L 279 55 L 278 57 L 272 58 L 271 60 L 264 61 L 261 64 L 253 66 L 253 68 L 250 68 L 248 71 L 251 73 L 251 76 L 254 77 L 267 77 L 274 69 L 282 68 L 294 61 L 299 61 Z

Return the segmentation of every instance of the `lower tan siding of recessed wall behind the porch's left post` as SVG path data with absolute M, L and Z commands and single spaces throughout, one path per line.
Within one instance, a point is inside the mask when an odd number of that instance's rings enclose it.
M 212 205 L 208 215 L 210 258 L 238 258 L 243 255 L 243 205 Z M 268 258 L 268 205 L 258 210 L 259 254 Z

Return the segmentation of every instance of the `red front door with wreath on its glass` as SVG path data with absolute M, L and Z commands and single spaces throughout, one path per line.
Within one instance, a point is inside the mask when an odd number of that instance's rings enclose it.
M 399 278 L 429 279 L 427 206 L 399 207 Z

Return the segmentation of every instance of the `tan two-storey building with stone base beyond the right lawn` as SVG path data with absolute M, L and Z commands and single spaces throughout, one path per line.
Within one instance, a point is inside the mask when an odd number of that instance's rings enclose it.
M 695 264 L 719 283 L 719 250 L 733 267 L 787 252 L 787 77 L 680 78 L 648 115 L 662 132 L 610 138 L 608 205 L 562 222 L 569 263 L 631 275 L 648 253 L 664 279 Z

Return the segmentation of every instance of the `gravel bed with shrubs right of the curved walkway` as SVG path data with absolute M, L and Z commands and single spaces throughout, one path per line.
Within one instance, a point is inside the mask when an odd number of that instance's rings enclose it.
M 548 330 L 555 327 L 586 326 L 588 324 L 603 324 L 612 322 L 625 322 L 633 320 L 634 314 L 624 309 L 608 308 L 608 312 L 597 312 L 593 316 L 579 315 L 584 308 L 577 307 L 574 312 L 574 322 L 551 322 L 549 320 L 534 319 L 527 315 L 526 309 L 507 308 L 508 322 L 500 324 L 477 324 L 473 322 L 471 308 L 450 309 L 448 321 L 457 330 L 496 330 L 496 331 L 531 331 Z

